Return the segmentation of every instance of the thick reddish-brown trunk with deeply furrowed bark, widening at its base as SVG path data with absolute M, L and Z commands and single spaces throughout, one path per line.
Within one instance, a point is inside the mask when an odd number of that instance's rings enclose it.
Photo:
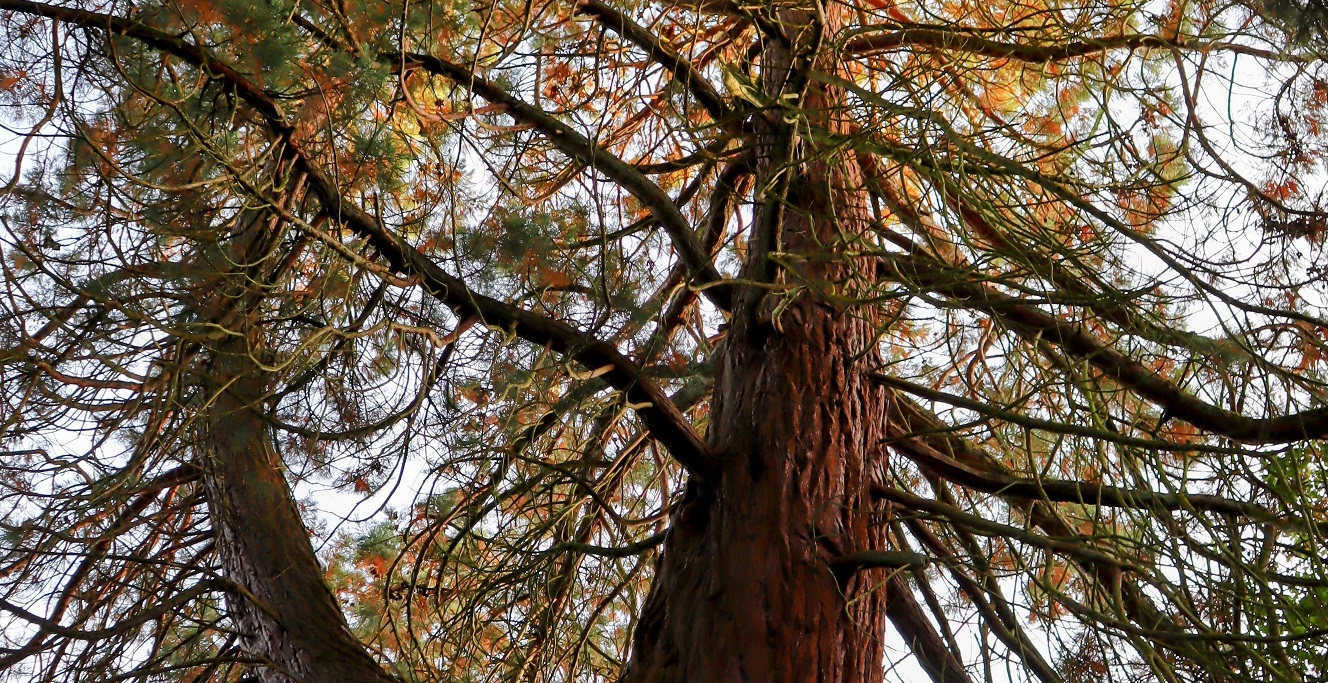
M 806 12 L 781 19 L 785 27 L 811 23 Z M 766 50 L 770 94 L 772 72 L 791 60 Z M 842 128 L 818 114 L 839 97 L 811 84 L 803 110 L 819 125 Z M 778 136 L 770 140 L 758 189 L 770 186 L 776 170 Z M 778 219 L 780 250 L 834 252 L 866 233 L 862 186 L 851 153 L 801 165 Z M 753 243 L 760 248 L 760 239 Z M 809 262 L 786 282 L 814 284 L 778 314 L 777 296 L 753 296 L 734 311 L 718 352 L 708 435 L 722 472 L 689 484 L 673 517 L 625 682 L 882 679 L 887 573 L 835 577 L 827 565 L 886 547 L 883 512 L 870 494 L 884 474 L 887 415 L 886 393 L 866 375 L 880 360 L 875 326 L 822 294 L 846 294 L 851 266 Z M 748 263 L 748 274 L 761 270 Z

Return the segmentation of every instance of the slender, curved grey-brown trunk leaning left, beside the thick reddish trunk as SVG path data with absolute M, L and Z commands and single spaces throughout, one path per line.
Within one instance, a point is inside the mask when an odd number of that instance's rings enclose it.
M 203 356 L 207 403 L 197 442 L 222 571 L 232 589 L 231 618 L 243 656 L 266 662 L 264 683 L 394 680 L 351 633 L 313 554 L 282 460 L 263 420 L 270 376 L 263 357 L 254 282 L 272 225 L 250 221 L 228 252 L 205 255 L 202 318 L 228 336 Z

